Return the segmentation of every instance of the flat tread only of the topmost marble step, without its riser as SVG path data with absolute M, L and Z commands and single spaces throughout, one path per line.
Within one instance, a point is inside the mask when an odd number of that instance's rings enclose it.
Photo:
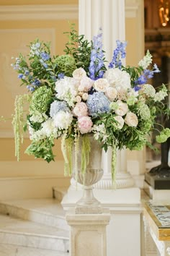
M 27 200 L 6 200 L 0 202 L 4 205 L 14 206 L 16 208 L 22 208 L 26 210 L 32 210 L 37 213 L 44 213 L 49 216 L 58 216 L 65 218 L 66 212 L 63 210 L 61 203 L 56 199 L 27 199 Z

